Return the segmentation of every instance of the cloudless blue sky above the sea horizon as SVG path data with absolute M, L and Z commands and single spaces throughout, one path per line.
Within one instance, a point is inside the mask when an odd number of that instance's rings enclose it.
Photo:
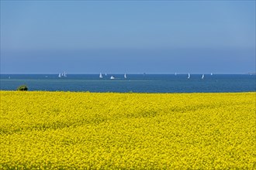
M 1 73 L 255 72 L 255 1 L 2 1 Z

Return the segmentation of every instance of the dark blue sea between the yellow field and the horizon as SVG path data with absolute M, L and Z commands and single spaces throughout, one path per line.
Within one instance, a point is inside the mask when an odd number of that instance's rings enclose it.
M 114 80 L 110 80 L 114 76 Z M 219 93 L 256 91 L 256 75 L 249 74 L 1 74 L 0 90 L 89 91 L 121 93 Z

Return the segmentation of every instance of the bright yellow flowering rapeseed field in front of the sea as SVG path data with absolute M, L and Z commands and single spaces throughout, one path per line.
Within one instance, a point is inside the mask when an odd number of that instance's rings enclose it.
M 256 168 L 255 92 L 0 94 L 0 169 Z

